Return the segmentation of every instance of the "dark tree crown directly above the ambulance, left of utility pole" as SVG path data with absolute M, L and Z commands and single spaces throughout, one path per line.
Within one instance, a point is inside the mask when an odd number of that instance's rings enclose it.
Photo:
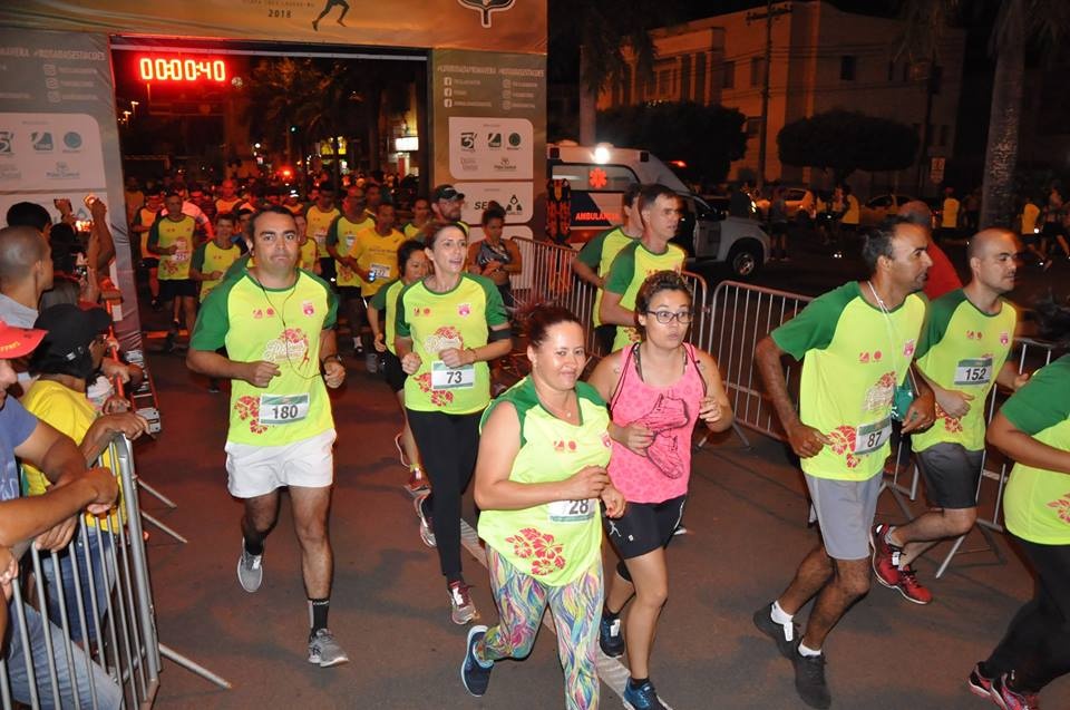
M 739 109 L 693 101 L 622 106 L 599 111 L 599 138 L 683 161 L 689 179 L 721 182 L 747 149 L 746 120 Z

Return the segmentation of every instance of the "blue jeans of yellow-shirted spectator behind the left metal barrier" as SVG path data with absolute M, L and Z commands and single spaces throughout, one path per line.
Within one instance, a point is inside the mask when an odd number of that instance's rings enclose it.
M 70 640 L 75 643 L 88 636 L 91 643 L 97 642 L 97 630 L 93 622 L 93 597 L 89 595 L 89 570 L 93 570 L 93 587 L 97 596 L 96 617 L 100 622 L 100 632 L 104 633 L 104 613 L 108 609 L 108 595 L 111 587 L 115 586 L 115 573 L 111 572 L 111 533 L 100 532 L 100 542 L 97 542 L 97 529 L 86 527 L 86 539 L 88 545 L 81 542 L 81 531 L 75 535 L 71 541 L 74 544 L 57 555 L 59 560 L 59 580 L 56 578 L 56 566 L 50 556 L 41 556 L 41 572 L 45 575 L 48 596 L 48 619 L 62 626 L 60 622 L 59 595 L 64 595 L 67 605 L 68 629 L 70 630 Z M 101 552 L 104 560 L 101 560 Z M 88 632 L 81 628 L 81 619 L 78 616 L 78 596 L 75 589 L 75 565 L 71 563 L 71 556 L 75 556 L 78 563 L 78 583 L 81 586 L 81 604 L 86 612 L 86 625 Z M 105 578 L 105 570 L 108 571 Z M 60 585 L 61 582 L 61 585 Z

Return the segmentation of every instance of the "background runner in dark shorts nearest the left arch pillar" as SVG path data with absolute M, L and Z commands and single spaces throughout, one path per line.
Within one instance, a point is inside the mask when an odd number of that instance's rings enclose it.
M 164 352 L 173 352 L 181 328 L 179 315 L 189 334 L 193 334 L 197 319 L 197 284 L 189 278 L 189 257 L 197 223 L 194 217 L 183 214 L 178 193 L 168 193 L 164 205 L 167 214 L 153 223 L 148 233 L 148 251 L 159 256 L 159 301 L 163 304 L 174 303 L 171 329 L 164 340 Z

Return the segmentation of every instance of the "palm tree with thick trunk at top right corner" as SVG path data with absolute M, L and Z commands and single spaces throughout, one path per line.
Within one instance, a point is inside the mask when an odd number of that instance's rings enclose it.
M 906 3 L 907 40 L 935 47 L 949 17 L 991 8 L 996 0 L 911 0 Z M 980 226 L 1009 226 L 1014 216 L 1014 171 L 1022 118 L 1025 49 L 1031 42 L 1054 46 L 1070 35 L 1066 0 L 998 0 L 989 51 L 995 57 L 989 139 L 984 154 Z M 915 45 L 916 48 L 916 45 Z M 930 56 L 926 51 L 923 56 Z

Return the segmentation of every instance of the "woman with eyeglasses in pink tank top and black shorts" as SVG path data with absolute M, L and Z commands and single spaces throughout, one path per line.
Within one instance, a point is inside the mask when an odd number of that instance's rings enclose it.
M 699 419 L 713 431 L 732 424 L 717 362 L 685 342 L 691 291 L 674 271 L 646 278 L 635 296 L 642 339 L 604 358 L 588 380 L 610 402 L 610 480 L 628 507 L 605 528 L 621 562 L 602 611 L 599 643 L 610 656 L 628 646 L 624 701 L 660 708 L 650 682 L 650 651 L 669 595 L 665 547 L 683 516 L 691 475 L 691 434 Z M 635 597 L 624 620 L 624 605 Z

